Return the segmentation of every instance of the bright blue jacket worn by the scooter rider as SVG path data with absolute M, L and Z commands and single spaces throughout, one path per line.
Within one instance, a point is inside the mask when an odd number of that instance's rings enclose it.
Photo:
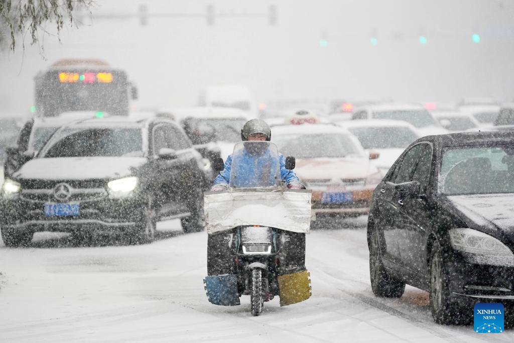
M 266 174 L 263 173 L 263 171 L 276 168 L 276 166 L 270 166 L 269 161 L 270 159 L 266 158 L 266 156 L 252 155 L 248 152 L 242 154 L 241 160 L 237 161 L 236 164 L 238 168 L 240 168 L 237 172 L 237 175 L 239 176 L 237 184 L 241 185 L 240 187 L 255 187 L 256 183 L 259 182 L 259 178 L 266 177 Z M 291 182 L 300 182 L 294 171 L 286 169 L 285 161 L 286 159 L 284 155 L 279 153 L 281 179 L 284 180 L 286 184 L 290 184 Z M 232 155 L 229 155 L 225 161 L 224 169 L 219 172 L 219 175 L 214 179 L 214 185 L 228 184 L 231 168 Z M 272 180 L 270 180 L 270 182 L 272 183 Z

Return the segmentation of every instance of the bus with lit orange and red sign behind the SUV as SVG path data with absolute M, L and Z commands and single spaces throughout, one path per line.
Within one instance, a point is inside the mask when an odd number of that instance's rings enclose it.
M 128 116 L 137 88 L 126 72 L 95 59 L 65 59 L 41 71 L 35 81 L 35 112 L 54 117 L 70 111 Z

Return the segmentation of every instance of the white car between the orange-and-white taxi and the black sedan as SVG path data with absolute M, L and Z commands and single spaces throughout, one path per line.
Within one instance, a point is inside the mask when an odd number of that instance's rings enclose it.
M 413 125 L 401 120 L 345 120 L 337 124 L 355 135 L 368 154 L 379 154 L 371 162 L 382 175 L 386 175 L 405 148 L 420 137 Z

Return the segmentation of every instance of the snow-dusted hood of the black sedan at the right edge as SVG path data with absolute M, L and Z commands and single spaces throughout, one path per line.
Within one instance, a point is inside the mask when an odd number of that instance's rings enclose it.
M 514 194 L 451 195 L 448 200 L 475 224 L 493 224 L 514 239 Z

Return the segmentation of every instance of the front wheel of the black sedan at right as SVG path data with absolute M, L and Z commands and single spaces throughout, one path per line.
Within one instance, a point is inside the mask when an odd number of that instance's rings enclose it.
M 448 275 L 445 268 L 441 247 L 437 241 L 434 242 L 431 257 L 430 309 L 434 321 L 438 324 L 467 323 L 470 316 L 466 314 L 464 309 L 460 311 L 456 299 L 451 296 L 449 288 L 450 275 Z

